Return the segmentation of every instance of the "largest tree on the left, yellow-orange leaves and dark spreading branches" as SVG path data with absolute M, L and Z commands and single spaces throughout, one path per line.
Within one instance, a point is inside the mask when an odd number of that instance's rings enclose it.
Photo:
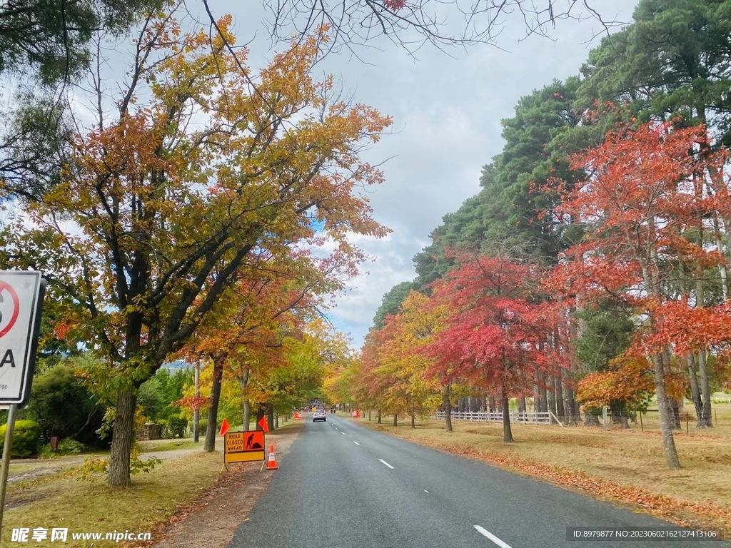
M 115 487 L 130 483 L 137 389 L 252 251 L 278 254 L 316 227 L 345 249 L 349 234 L 387 232 L 358 190 L 382 173 L 359 154 L 391 120 L 311 76 L 327 28 L 254 76 L 246 48 L 228 47 L 230 23 L 211 39 L 171 14 L 147 18 L 114 115 L 96 81 L 96 122 L 61 182 L 2 234 L 5 264 L 41 270 L 67 305 L 67 336 L 105 359 L 88 381 L 115 403 Z

